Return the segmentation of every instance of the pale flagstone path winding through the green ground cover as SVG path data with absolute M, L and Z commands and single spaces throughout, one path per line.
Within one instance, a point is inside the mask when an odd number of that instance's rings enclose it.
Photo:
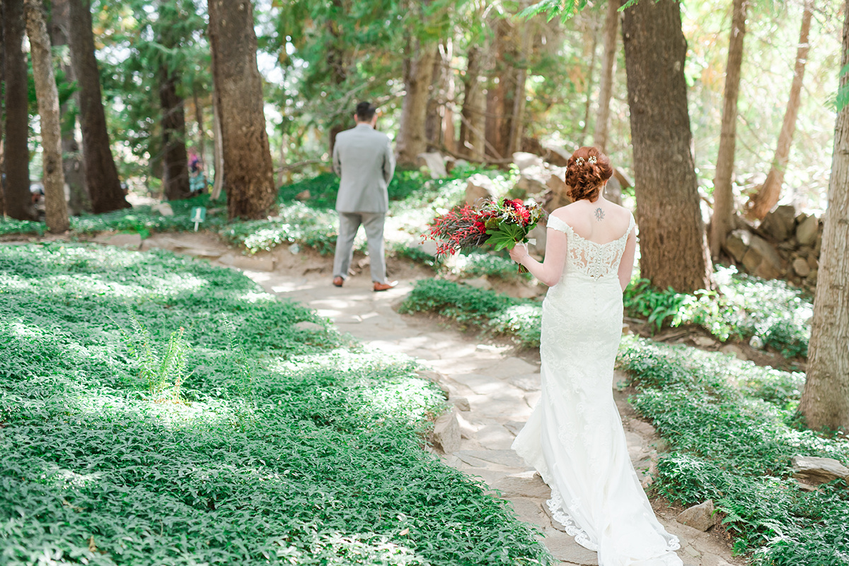
M 97 240 L 120 243 L 110 241 L 109 236 L 99 236 Z M 441 455 L 443 461 L 498 490 L 521 519 L 537 525 L 543 542 L 560 564 L 598 563 L 595 552 L 580 547 L 553 524 L 545 506 L 548 486 L 510 450 L 515 434 L 539 397 L 538 351 L 519 350 L 506 341 L 481 339 L 439 319 L 398 314 L 396 308 L 414 281 L 433 276 L 429 269 L 412 261 L 392 261 L 389 276 L 399 280 L 399 285 L 391 291 L 374 293 L 368 277 L 368 259 L 358 254 L 353 265 L 361 273 L 349 278 L 344 287 L 336 288 L 330 284 L 332 256 L 321 256 L 308 248 L 284 246 L 273 253 L 247 257 L 227 247 L 218 236 L 204 232 L 157 234 L 143 241 L 141 249 L 154 248 L 241 269 L 269 293 L 315 308 L 319 315 L 331 319 L 340 331 L 367 348 L 418 358 L 425 368 L 430 368 L 427 373 L 448 392 L 449 401 L 458 409 L 462 441 L 456 450 Z M 661 439 L 654 427 L 636 418 L 627 403 L 628 393 L 614 390 L 629 453 L 638 474 L 643 475 Z M 725 533 L 713 532 L 716 528 L 701 532 L 679 524 L 676 516 L 680 508 L 672 508 L 660 498 L 652 503 L 661 523 L 680 538 L 682 548 L 678 553 L 685 564 L 745 564 L 742 558 L 732 556 Z

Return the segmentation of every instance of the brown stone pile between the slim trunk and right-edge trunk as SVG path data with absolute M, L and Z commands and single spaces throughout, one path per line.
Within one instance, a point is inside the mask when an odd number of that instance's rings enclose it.
M 812 288 L 817 284 L 822 245 L 823 223 L 818 217 L 780 206 L 759 226 L 734 230 L 723 248 L 740 271 Z

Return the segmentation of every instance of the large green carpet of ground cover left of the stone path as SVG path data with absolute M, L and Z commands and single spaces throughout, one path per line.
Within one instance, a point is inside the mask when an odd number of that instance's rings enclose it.
M 0 563 L 545 563 L 422 450 L 443 407 L 234 271 L 0 246 Z

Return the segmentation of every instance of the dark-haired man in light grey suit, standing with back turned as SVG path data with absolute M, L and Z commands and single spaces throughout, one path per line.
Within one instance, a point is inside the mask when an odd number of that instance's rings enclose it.
M 340 287 L 345 283 L 354 253 L 354 236 L 363 225 L 374 291 L 386 291 L 397 285 L 397 281 L 386 281 L 383 243 L 383 223 L 389 207 L 386 187 L 395 173 L 395 157 L 389 137 L 374 130 L 377 112 L 371 103 L 357 104 L 354 119 L 357 125 L 340 132 L 333 147 L 333 170 L 340 176 L 333 284 Z

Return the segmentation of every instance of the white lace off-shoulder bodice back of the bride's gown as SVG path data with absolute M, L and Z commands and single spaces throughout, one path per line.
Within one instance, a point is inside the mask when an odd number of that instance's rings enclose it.
M 619 238 L 613 241 L 599 244 L 578 236 L 572 227 L 556 216 L 548 217 L 548 228 L 558 230 L 566 235 L 566 263 L 564 275 L 568 273 L 582 273 L 593 279 L 600 279 L 605 275 L 616 275 L 619 271 L 619 262 L 622 253 L 625 252 L 625 244 L 628 235 L 634 228 L 634 217 L 628 219 L 628 229 Z

